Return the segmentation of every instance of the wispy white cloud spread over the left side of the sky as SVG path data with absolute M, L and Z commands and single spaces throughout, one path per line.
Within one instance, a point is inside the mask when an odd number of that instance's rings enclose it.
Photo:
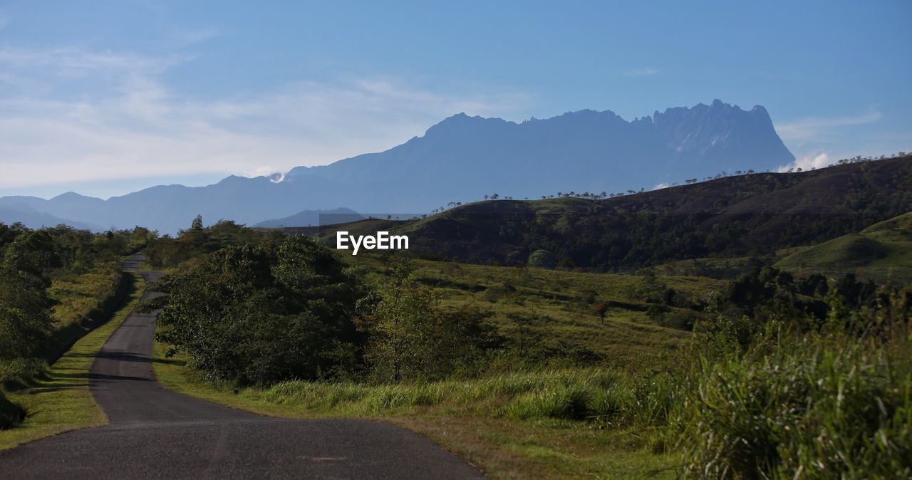
M 392 78 L 306 81 L 192 100 L 162 79 L 185 61 L 0 48 L 0 189 L 281 172 L 391 148 L 460 111 L 503 116 L 529 102 L 516 93 L 444 95 Z

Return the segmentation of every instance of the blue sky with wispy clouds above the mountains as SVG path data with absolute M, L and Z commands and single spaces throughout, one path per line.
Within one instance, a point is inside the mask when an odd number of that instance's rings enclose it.
M 0 195 L 327 164 L 459 112 L 714 98 L 766 107 L 796 166 L 910 151 L 910 20 L 907 0 L 0 0 Z

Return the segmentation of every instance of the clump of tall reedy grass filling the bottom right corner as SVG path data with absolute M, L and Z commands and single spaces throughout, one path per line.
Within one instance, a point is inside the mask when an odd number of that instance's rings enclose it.
M 672 415 L 685 476 L 909 478 L 907 349 L 809 337 L 704 360 Z

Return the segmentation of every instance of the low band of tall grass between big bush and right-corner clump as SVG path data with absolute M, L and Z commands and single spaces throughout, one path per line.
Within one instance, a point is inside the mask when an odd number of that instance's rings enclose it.
M 311 412 L 402 414 L 422 407 L 517 420 L 645 418 L 647 390 L 626 375 L 601 369 L 503 373 L 431 383 L 284 382 L 244 395 Z

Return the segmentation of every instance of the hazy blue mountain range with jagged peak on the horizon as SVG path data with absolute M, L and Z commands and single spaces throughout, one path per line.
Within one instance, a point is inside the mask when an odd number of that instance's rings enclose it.
M 411 214 L 492 193 L 534 199 L 557 191 L 652 189 L 720 171 L 777 169 L 793 160 L 765 108 L 743 110 L 720 100 L 632 121 L 594 110 L 520 123 L 457 114 L 389 150 L 297 167 L 284 176 L 161 185 L 107 200 L 73 192 L 4 197 L 0 208 L 7 211 L 4 221 L 21 211 L 33 223 L 59 220 L 92 229 L 143 225 L 173 233 L 197 214 L 206 223 L 292 226 L 286 218 L 302 210 Z M 48 217 L 36 219 L 35 212 Z

